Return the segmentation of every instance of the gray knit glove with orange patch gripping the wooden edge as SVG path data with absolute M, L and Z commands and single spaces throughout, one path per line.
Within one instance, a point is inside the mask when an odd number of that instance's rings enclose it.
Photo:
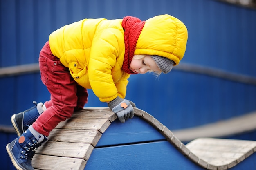
M 133 118 L 133 107 L 135 107 L 135 104 L 132 101 L 117 96 L 117 98 L 108 103 L 108 107 L 117 114 L 119 121 L 122 123 L 128 118 Z

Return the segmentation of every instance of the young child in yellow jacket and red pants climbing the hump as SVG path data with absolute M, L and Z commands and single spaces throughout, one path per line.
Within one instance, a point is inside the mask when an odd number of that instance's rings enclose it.
M 186 26 L 167 14 L 146 21 L 84 19 L 54 31 L 39 55 L 41 80 L 51 98 L 11 117 L 19 136 L 6 146 L 13 165 L 33 170 L 34 150 L 58 123 L 83 109 L 87 89 L 121 122 L 132 118 L 135 105 L 124 99 L 130 74 L 170 72 L 183 58 L 187 38 Z

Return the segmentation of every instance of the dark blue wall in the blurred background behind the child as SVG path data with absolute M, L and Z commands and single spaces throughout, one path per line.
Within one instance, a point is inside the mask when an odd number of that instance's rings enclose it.
M 181 65 L 256 78 L 256 10 L 216 0 L 0 0 L 0 68 L 37 63 L 52 31 L 83 18 L 130 15 L 146 20 L 165 13 L 182 20 L 189 31 Z M 147 74 L 129 80 L 127 98 L 171 130 L 256 110 L 255 83 L 180 69 L 159 78 Z M 86 107 L 106 107 L 89 92 Z M 40 73 L 0 77 L 0 125 L 11 126 L 11 115 L 31 107 L 33 100 L 48 99 Z M 14 138 L 0 134 L 2 153 Z M 1 165 L 9 165 L 9 157 L 2 161 Z

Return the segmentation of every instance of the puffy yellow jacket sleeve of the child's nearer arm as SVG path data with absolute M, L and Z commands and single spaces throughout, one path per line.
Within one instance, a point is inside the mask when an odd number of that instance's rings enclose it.
M 117 63 L 122 39 L 120 30 L 108 28 L 95 34 L 92 40 L 88 76 L 94 94 L 102 102 L 112 101 L 118 94 L 111 69 Z

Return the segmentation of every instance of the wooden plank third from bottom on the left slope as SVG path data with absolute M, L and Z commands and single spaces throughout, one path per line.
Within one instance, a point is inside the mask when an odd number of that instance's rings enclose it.
M 101 138 L 97 130 L 54 129 L 49 135 L 49 141 L 90 143 L 95 146 Z

